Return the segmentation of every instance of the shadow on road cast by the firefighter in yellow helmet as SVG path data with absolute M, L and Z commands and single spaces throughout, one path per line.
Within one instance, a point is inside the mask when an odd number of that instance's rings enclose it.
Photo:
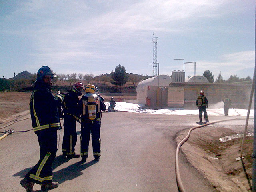
M 76 162 L 66 168 L 63 168 L 59 171 L 53 172 L 53 178 L 55 181 L 60 184 L 67 181 L 72 180 L 80 175 L 82 175 L 82 170 L 96 164 L 98 161 L 90 161 L 88 163 Z

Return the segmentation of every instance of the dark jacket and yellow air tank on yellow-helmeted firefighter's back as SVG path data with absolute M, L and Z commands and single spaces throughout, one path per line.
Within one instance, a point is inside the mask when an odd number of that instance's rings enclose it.
M 106 110 L 104 102 L 93 93 L 86 93 L 82 96 L 78 103 L 81 116 L 81 123 L 86 122 L 100 122 L 101 111 Z

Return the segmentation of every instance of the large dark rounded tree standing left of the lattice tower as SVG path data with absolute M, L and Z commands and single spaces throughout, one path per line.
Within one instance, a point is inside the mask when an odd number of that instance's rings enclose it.
M 123 86 L 128 81 L 128 75 L 124 66 L 116 66 L 115 72 L 111 72 L 111 77 L 113 81 L 111 82 L 115 86 Z

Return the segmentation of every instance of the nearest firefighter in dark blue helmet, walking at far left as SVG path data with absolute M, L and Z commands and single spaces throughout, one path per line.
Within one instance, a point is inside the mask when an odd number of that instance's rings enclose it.
M 35 183 L 41 190 L 58 187 L 52 182 L 52 163 L 57 152 L 57 129 L 60 129 L 57 98 L 52 95 L 51 82 L 56 77 L 48 66 L 42 66 L 37 72 L 30 98 L 32 127 L 38 137 L 40 159 L 38 163 L 20 181 L 27 192 L 33 192 Z

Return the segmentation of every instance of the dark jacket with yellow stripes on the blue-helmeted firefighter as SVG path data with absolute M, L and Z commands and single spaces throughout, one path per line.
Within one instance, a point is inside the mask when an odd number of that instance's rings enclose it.
M 30 114 L 34 132 L 44 129 L 59 129 L 57 98 L 52 95 L 51 87 L 36 82 L 30 97 Z

